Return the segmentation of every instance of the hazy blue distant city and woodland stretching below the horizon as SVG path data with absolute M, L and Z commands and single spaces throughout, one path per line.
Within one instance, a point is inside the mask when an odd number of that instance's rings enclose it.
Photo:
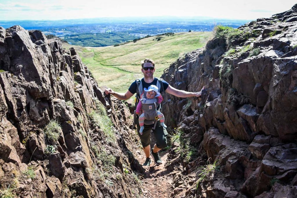
M 0 26 L 9 28 L 20 25 L 28 30 L 41 30 L 53 34 L 73 45 L 107 46 L 154 36 L 166 32 L 212 31 L 214 26 L 238 28 L 248 20 L 209 18 L 97 18 L 57 21 L 2 21 Z

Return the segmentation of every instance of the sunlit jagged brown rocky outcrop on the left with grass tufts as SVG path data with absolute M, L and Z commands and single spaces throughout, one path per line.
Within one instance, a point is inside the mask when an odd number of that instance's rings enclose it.
M 129 110 L 103 95 L 73 48 L 0 27 L 0 85 L 1 197 L 139 192 Z

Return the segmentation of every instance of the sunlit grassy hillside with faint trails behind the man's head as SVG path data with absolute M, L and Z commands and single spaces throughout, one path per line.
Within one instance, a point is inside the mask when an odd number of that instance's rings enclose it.
M 154 36 L 119 46 L 75 47 L 82 61 L 93 73 L 100 87 L 107 86 L 117 92 L 126 92 L 130 84 L 143 77 L 141 61 L 155 61 L 155 77 L 160 77 L 170 63 L 185 53 L 203 47 L 211 32 L 183 32 L 170 36 Z

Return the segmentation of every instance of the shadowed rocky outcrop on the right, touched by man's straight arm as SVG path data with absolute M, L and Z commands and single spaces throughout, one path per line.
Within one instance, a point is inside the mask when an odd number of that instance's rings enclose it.
M 205 48 L 165 70 L 177 89 L 207 88 L 201 99 L 164 97 L 166 125 L 200 153 L 183 158 L 176 197 L 296 197 L 296 16 L 297 4 L 237 30 L 218 26 Z

